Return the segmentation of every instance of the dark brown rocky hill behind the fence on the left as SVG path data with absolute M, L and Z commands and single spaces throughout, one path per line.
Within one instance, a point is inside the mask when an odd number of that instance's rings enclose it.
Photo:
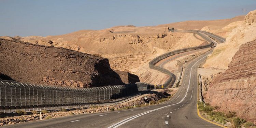
M 138 82 L 138 76 L 122 79 L 109 60 L 60 47 L 0 39 L 1 79 L 41 85 L 95 87 Z M 132 76 L 134 79 L 128 79 Z

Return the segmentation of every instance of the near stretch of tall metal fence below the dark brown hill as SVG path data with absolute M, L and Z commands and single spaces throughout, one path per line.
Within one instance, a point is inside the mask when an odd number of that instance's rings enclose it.
M 140 82 L 93 88 L 66 88 L 0 81 L 0 113 L 15 112 L 16 109 L 51 110 L 115 104 L 153 87 Z M 131 94 L 134 95 L 115 102 L 111 101 Z

